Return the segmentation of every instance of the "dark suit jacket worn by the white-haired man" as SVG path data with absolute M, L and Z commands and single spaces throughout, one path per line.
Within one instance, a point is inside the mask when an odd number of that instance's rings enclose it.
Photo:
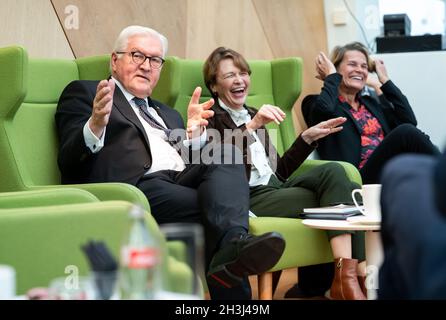
M 59 99 L 55 118 L 62 183 L 126 182 L 135 185 L 152 166 L 151 149 L 141 122 L 118 86 L 113 96 L 104 147 L 98 153 L 92 153 L 85 144 L 83 127 L 91 116 L 98 83 L 73 81 Z M 148 100 L 168 128 L 184 129 L 177 111 Z

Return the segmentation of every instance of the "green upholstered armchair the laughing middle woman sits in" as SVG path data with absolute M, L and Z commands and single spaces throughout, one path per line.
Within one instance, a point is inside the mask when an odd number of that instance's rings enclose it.
M 277 126 L 267 125 L 276 148 L 281 154 L 296 139 L 293 125 L 292 108 L 300 95 L 302 87 L 302 60 L 285 58 L 276 60 L 248 61 L 252 70 L 251 89 L 247 104 L 256 108 L 263 104 L 280 106 L 287 117 Z M 201 100 L 211 97 L 202 76 L 203 61 L 169 57 L 163 67 L 163 101 L 178 110 L 185 119 L 188 102 L 195 87 L 203 88 Z M 275 130 L 271 130 L 275 129 Z M 274 139 L 275 138 L 275 139 Z M 306 160 L 294 174 L 303 173 L 314 166 L 325 163 L 320 160 Z M 361 183 L 359 172 L 349 163 L 341 162 L 348 177 Z M 251 218 L 250 231 L 261 234 L 268 231 L 280 232 L 286 240 L 285 252 L 271 272 L 287 268 L 307 266 L 333 261 L 329 243 L 324 231 L 310 229 L 301 220 L 291 218 Z M 272 273 L 259 275 L 260 299 L 273 296 Z

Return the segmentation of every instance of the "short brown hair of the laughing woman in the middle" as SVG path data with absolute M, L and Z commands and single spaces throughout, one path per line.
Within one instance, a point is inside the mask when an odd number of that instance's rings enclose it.
M 226 47 L 218 47 L 212 51 L 203 66 L 204 83 L 214 98 L 217 98 L 217 94 L 212 92 L 211 88 L 217 82 L 218 66 L 220 61 L 224 59 L 232 59 L 237 68 L 243 72 L 251 74 L 251 68 L 249 67 L 248 62 L 240 53 Z

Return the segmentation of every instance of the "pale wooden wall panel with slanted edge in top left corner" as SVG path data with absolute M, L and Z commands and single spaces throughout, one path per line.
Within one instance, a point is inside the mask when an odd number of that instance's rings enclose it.
M 2 0 L 0 47 L 21 45 L 31 57 L 73 58 L 50 0 Z

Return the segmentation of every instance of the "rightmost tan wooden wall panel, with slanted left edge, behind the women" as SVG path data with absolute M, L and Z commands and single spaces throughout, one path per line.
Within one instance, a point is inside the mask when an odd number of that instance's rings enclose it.
M 303 90 L 295 106 L 295 123 L 298 130 L 305 128 L 300 103 L 307 94 L 320 91 L 322 82 L 315 78 L 314 60 L 319 51 L 327 52 L 323 0 L 252 1 L 274 56 L 299 56 L 304 60 Z

